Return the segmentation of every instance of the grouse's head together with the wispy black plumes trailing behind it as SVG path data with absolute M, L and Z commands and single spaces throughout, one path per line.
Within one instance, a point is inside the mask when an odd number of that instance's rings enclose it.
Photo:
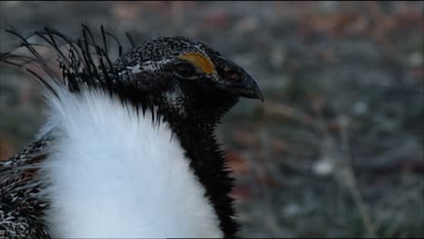
M 101 30 L 104 40 L 105 33 Z M 2 53 L 0 62 L 24 68 L 28 60 L 37 63 L 50 80 L 31 69 L 27 71 L 55 95 L 55 89 L 78 92 L 85 86 L 100 88 L 137 106 L 158 106 L 161 115 L 168 119 L 207 125 L 215 125 L 241 97 L 264 100 L 258 84 L 242 67 L 206 43 L 186 37 L 152 39 L 111 62 L 107 44 L 96 43 L 84 25 L 83 37 L 76 40 L 49 28 L 34 32 L 32 35 L 43 39 L 57 55 L 61 77 L 47 66 L 35 51 L 36 44 L 27 41 L 28 37 L 8 32 L 20 38 L 23 44 L 19 47 L 26 47 L 30 55 L 8 51 Z M 69 55 L 61 48 L 62 44 Z

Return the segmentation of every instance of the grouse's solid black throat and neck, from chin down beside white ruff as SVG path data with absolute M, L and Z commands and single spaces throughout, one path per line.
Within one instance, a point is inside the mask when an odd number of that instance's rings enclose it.
M 211 89 L 203 91 L 189 84 L 181 85 L 181 89 L 184 97 L 174 100 L 181 102 L 180 105 L 172 105 L 169 109 L 169 101 L 160 102 L 162 115 L 180 140 L 190 160 L 189 166 L 206 188 L 206 196 L 214 206 L 221 230 L 226 237 L 234 238 L 239 225 L 233 219 L 235 210 L 233 199 L 229 196 L 233 178 L 229 176 L 230 170 L 226 167 L 224 152 L 217 144 L 214 131 L 238 98 Z M 173 109 L 183 109 L 183 114 Z M 169 112 L 177 115 L 169 115 Z

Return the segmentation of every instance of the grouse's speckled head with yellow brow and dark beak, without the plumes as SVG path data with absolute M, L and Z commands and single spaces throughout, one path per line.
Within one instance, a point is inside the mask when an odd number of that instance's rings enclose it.
M 154 95 L 185 119 L 220 118 L 240 97 L 264 100 L 243 68 L 207 44 L 185 37 L 161 37 L 132 49 L 114 63 L 130 82 Z

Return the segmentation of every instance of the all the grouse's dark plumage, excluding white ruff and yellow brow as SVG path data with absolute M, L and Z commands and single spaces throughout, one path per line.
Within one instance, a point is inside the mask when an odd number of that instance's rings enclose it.
M 5 51 L 0 62 L 32 73 L 46 88 L 47 97 L 61 100 L 58 89 L 74 94 L 93 89 L 116 96 L 123 105 L 140 109 L 140 114 L 146 110 L 157 112 L 152 113 L 152 121 L 165 120 L 178 137 L 190 159 L 189 166 L 206 188 L 206 197 L 215 209 L 223 234 L 236 235 L 233 200 L 228 196 L 232 179 L 214 129 L 240 96 L 262 99 L 255 81 L 243 69 L 206 44 L 184 37 L 154 39 L 123 54 L 119 45 L 120 58 L 111 62 L 105 40 L 108 33 L 103 28 L 102 43 L 95 42 L 86 26 L 82 38 L 77 40 L 47 28 L 32 33 L 30 36 L 41 38 L 56 54 L 61 72 L 58 74 L 51 62 L 36 51 L 36 44 L 28 42 L 28 37 L 9 32 L 21 40 L 17 48 L 23 46 L 29 54 L 15 54 L 15 49 Z M 213 62 L 214 68 L 209 69 L 213 72 L 202 72 L 197 62 L 178 57 L 185 53 L 196 53 Z M 43 195 L 43 189 L 51 182 L 41 179 L 39 163 L 53 149 L 54 130 L 54 125 L 45 126 L 34 143 L 20 154 L 0 161 L 0 237 L 50 236 L 43 214 L 51 202 Z

